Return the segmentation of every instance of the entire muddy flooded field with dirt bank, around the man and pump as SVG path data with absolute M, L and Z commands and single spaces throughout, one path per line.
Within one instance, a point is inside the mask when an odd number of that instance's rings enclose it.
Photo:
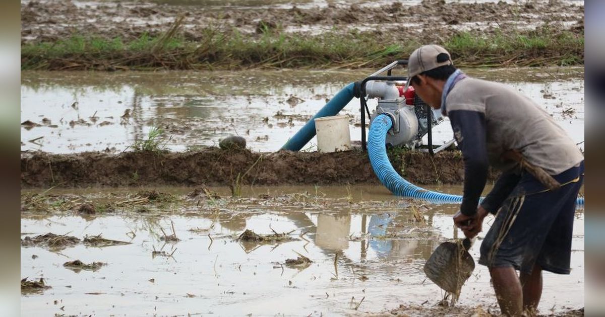
M 264 34 L 371 32 L 368 38 L 381 43 L 442 43 L 463 31 L 535 32 L 539 40 L 584 32 L 583 1 L 22 0 L 22 48 L 45 50 L 66 39 L 78 46 L 61 46 L 67 54 L 54 51 L 56 59 L 26 69 L 87 69 L 69 52 L 108 43 L 97 37 L 132 48 L 146 36 L 170 33 L 179 16 L 184 20 L 172 39 L 199 47 L 212 34 L 243 34 L 256 43 Z M 526 57 L 537 65 L 581 65 L 583 53 L 571 43 L 554 51 L 503 47 L 491 65 L 501 60 L 500 68 L 463 70 L 528 95 L 583 150 L 583 67 L 502 68 L 510 60 L 530 65 Z M 101 46 L 93 49 L 102 52 Z M 98 63 L 115 62 L 112 54 Z M 473 54 L 468 65 L 494 57 Z M 374 64 L 292 70 L 259 63 L 264 69 L 246 71 L 207 64 L 191 69 L 208 71 L 22 71 L 22 313 L 499 315 L 486 267 L 477 265 L 457 303 L 422 271 L 439 243 L 461 237 L 451 220 L 459 205 L 393 196 L 359 148 L 319 154 L 313 138 L 302 152 L 279 150 L 340 89 L 374 72 L 367 69 Z M 103 65 L 94 69 L 116 70 Z M 368 106 L 373 110 L 376 100 Z M 359 100 L 341 114 L 358 145 Z M 137 150 L 156 129 L 162 146 Z M 217 147 L 231 135 L 243 136 L 246 149 Z M 448 120 L 434 127 L 435 144 L 451 137 Z M 408 181 L 462 194 L 459 152 L 391 150 L 389 157 Z M 489 183 L 496 177 L 491 171 Z M 470 250 L 475 260 L 492 221 Z M 584 315 L 584 210 L 575 214 L 571 266 L 570 275 L 544 275 L 540 316 Z

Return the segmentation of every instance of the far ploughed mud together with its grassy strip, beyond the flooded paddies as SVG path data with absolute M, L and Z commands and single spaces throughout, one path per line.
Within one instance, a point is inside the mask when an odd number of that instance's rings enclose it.
M 381 67 L 425 43 L 458 65 L 584 63 L 581 1 L 23 1 L 22 69 Z

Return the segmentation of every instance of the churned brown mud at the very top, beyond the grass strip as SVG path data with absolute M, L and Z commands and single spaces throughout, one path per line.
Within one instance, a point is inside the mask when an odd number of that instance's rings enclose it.
M 21 1 L 22 42 L 54 42 L 74 34 L 124 40 L 168 30 L 185 16 L 185 37 L 203 40 L 204 30 L 261 33 L 263 27 L 289 33 L 372 30 L 376 37 L 440 42 L 460 30 L 483 33 L 531 29 L 584 30 L 582 1 Z

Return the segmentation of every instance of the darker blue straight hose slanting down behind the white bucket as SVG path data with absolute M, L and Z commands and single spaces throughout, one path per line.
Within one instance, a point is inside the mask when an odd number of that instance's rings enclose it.
M 355 83 L 350 83 L 345 88 L 342 88 L 324 107 L 319 109 L 317 114 L 307 121 L 307 123 L 300 129 L 292 138 L 290 138 L 283 147 L 282 150 L 299 151 L 304 147 L 313 136 L 315 136 L 315 118 L 329 117 L 331 115 L 337 115 L 344 106 L 347 105 L 354 97 Z

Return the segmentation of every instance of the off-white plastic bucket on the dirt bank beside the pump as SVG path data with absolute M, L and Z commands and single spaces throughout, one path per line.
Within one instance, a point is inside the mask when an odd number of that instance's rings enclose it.
M 348 151 L 351 149 L 351 133 L 348 130 L 348 118 L 333 115 L 315 119 L 317 150 L 323 153 Z

